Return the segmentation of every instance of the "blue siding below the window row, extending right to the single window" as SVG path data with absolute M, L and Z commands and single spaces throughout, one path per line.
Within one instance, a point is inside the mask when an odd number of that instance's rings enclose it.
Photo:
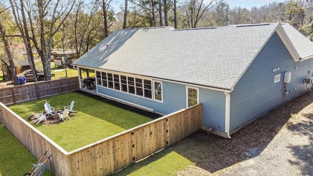
M 153 101 L 133 94 L 113 90 L 111 88 L 97 87 L 98 93 L 118 98 L 136 105 L 150 108 L 162 113 L 172 113 L 186 108 L 186 88 L 184 85 L 162 82 L 163 103 Z

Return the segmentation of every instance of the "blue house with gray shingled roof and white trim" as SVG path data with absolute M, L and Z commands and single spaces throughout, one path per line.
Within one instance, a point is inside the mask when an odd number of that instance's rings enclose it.
M 96 94 L 132 106 L 169 114 L 202 103 L 202 128 L 230 137 L 311 90 L 312 58 L 291 25 L 265 23 L 121 29 L 73 65 L 96 78 Z

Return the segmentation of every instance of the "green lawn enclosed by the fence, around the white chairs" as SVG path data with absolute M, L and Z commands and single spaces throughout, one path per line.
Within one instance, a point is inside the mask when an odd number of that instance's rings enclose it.
M 34 124 L 39 131 L 70 152 L 119 132 L 151 121 L 151 118 L 123 110 L 111 104 L 95 100 L 77 92 L 69 92 L 45 98 L 57 110 L 75 101 L 76 113 L 66 122 L 49 126 Z M 9 106 L 11 110 L 27 120 L 32 113 L 43 111 L 43 98 Z

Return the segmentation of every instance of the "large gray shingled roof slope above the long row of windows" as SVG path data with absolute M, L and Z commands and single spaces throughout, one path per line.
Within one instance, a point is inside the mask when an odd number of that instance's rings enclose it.
M 278 25 L 120 29 L 73 65 L 231 90 Z

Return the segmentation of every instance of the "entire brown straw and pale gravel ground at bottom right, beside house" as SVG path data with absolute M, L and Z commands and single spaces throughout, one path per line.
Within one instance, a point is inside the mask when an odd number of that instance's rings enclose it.
M 313 92 L 225 139 L 196 132 L 181 140 L 195 162 L 178 176 L 313 176 Z

